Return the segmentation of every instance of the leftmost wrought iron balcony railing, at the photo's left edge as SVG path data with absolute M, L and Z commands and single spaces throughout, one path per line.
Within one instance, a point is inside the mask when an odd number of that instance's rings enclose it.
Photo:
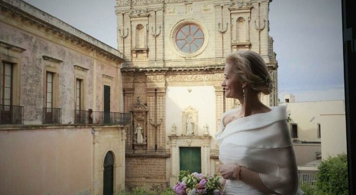
M 0 104 L 0 124 L 23 124 L 23 106 Z

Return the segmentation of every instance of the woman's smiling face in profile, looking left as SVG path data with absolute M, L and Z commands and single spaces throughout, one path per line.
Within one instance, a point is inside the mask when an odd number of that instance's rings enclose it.
M 243 98 L 242 83 L 234 72 L 234 67 L 230 63 L 226 63 L 224 70 L 224 80 L 221 84 L 225 88 L 226 98 Z

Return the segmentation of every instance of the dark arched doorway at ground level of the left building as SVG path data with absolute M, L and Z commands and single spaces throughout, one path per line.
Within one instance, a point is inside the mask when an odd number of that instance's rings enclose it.
M 113 194 L 113 179 L 114 179 L 114 156 L 112 152 L 109 151 L 104 159 L 104 185 L 103 185 L 103 195 Z

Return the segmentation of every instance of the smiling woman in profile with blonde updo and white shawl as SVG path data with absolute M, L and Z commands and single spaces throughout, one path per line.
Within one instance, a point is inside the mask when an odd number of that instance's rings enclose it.
M 269 108 L 259 99 L 272 92 L 264 59 L 252 51 L 231 53 L 224 76 L 226 98 L 239 99 L 242 107 L 223 114 L 216 135 L 223 195 L 302 195 L 286 107 Z

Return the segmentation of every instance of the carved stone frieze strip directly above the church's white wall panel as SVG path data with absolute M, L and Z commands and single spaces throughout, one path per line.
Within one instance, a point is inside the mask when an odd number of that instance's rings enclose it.
M 202 81 L 202 80 L 223 80 L 223 74 L 209 75 L 169 75 L 167 81 Z

